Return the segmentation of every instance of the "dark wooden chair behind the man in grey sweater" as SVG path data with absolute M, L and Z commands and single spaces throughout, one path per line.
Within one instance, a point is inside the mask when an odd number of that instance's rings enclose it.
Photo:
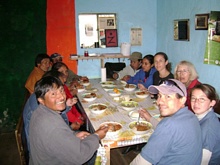
M 27 140 L 24 131 L 24 123 L 22 114 L 18 120 L 15 129 L 15 138 L 18 146 L 18 154 L 20 156 L 21 165 L 27 165 L 29 161 L 29 153 L 27 148 Z

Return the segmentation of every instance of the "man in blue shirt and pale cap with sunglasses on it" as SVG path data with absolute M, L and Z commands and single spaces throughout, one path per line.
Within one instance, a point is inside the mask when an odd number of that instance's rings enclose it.
M 148 90 L 158 94 L 157 105 L 163 119 L 131 165 L 201 164 L 201 128 L 196 116 L 185 107 L 185 85 L 169 79 L 159 86 L 149 86 Z M 140 115 L 144 117 L 142 110 Z

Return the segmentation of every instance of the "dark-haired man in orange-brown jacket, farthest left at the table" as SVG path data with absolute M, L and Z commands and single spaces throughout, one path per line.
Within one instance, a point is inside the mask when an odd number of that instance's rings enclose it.
M 41 79 L 45 72 L 50 68 L 50 57 L 47 54 L 38 54 L 35 58 L 35 67 L 30 73 L 26 83 L 25 88 L 30 94 L 34 92 L 35 83 Z

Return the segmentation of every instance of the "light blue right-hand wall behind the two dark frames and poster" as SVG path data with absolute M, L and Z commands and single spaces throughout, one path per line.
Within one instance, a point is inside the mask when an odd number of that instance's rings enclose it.
M 195 30 L 194 23 L 195 14 L 210 11 L 220 11 L 220 0 L 158 0 L 157 51 L 167 53 L 173 69 L 181 60 L 191 61 L 199 80 L 213 85 L 220 94 L 220 66 L 203 64 L 208 31 Z M 190 19 L 190 41 L 173 40 L 174 19 Z

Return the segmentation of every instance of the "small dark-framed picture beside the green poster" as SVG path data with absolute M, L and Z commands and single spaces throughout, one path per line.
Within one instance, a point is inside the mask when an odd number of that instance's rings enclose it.
M 195 15 L 195 30 L 208 30 L 209 13 Z

